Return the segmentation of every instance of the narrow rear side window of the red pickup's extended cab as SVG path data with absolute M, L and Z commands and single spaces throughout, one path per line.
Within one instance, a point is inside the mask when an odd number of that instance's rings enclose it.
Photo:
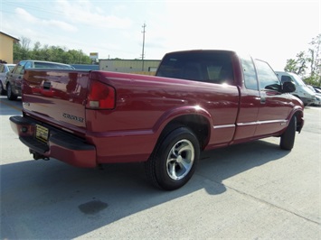
M 250 56 L 246 59 L 241 59 L 241 65 L 243 69 L 245 88 L 259 90 L 254 64 Z

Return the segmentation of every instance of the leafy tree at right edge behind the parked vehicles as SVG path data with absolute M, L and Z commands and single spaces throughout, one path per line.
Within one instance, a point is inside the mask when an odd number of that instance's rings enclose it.
M 309 42 L 307 51 L 297 53 L 297 59 L 287 60 L 285 71 L 297 73 L 304 81 L 313 86 L 321 86 L 321 34 Z

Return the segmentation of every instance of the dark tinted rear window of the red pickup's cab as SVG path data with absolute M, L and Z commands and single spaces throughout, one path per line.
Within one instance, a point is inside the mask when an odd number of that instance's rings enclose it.
M 169 53 L 162 60 L 156 75 L 231 84 L 234 79 L 231 53 L 227 51 Z

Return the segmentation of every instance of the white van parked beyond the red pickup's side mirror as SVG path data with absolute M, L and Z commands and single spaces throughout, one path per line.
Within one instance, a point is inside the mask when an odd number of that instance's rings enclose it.
M 298 97 L 305 106 L 315 102 L 315 92 L 310 88 L 307 88 L 305 82 L 299 76 L 297 76 L 297 74 L 285 71 L 276 71 L 275 73 L 282 83 L 291 81 L 296 85 L 296 90 L 292 93 L 292 95 Z

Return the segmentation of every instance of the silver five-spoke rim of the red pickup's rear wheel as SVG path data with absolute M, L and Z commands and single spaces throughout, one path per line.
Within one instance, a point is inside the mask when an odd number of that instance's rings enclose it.
M 191 171 L 193 163 L 193 143 L 186 139 L 178 141 L 167 156 L 167 174 L 172 180 L 181 180 Z

